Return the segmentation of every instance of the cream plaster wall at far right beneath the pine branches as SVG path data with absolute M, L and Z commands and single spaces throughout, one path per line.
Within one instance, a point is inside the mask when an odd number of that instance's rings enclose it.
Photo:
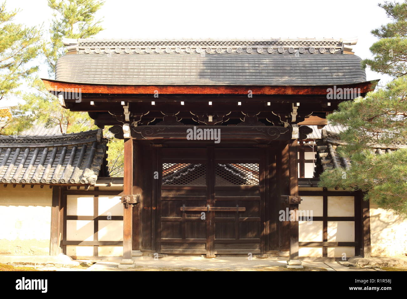
M 370 202 L 370 240 L 373 257 L 405 257 L 407 220 Z

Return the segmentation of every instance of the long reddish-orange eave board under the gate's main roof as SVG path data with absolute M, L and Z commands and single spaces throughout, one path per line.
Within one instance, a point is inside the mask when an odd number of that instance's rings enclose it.
M 298 85 L 298 86 L 264 86 L 264 85 L 110 85 L 72 83 L 42 79 L 49 92 L 67 92 L 80 89 L 82 94 L 239 94 L 247 95 L 251 90 L 256 95 L 326 95 L 333 85 Z M 360 88 L 362 94 L 374 90 L 379 80 L 362 83 L 336 85 L 341 88 Z M 72 90 L 73 91 L 73 90 Z

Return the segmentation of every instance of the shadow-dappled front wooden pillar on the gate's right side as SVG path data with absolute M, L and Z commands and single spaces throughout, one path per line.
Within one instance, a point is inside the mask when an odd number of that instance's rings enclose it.
M 298 196 L 298 139 L 291 140 L 289 144 L 289 188 L 290 196 Z M 287 264 L 300 266 L 301 262 L 298 260 L 298 205 L 289 205 L 290 215 L 294 215 L 293 219 L 290 221 L 290 259 Z

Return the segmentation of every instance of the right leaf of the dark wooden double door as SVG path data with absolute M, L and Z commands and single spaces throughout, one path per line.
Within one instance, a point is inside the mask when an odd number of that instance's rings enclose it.
M 211 214 L 213 254 L 260 253 L 261 212 L 260 149 L 215 149 L 214 207 L 244 207 L 244 211 Z

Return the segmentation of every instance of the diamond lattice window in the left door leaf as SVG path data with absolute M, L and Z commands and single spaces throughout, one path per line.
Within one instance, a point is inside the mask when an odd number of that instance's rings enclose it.
M 206 185 L 206 165 L 188 163 L 163 163 L 163 185 Z

